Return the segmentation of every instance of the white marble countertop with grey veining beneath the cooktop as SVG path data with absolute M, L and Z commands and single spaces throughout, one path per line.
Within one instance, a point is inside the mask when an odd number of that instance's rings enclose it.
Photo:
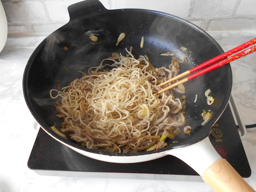
M 252 38 L 256 32 L 209 32 L 224 51 Z M 212 191 L 202 181 L 113 179 L 90 177 L 42 176 L 30 170 L 27 161 L 38 130 L 23 98 L 22 77 L 29 56 L 47 36 L 9 36 L 0 52 L 0 192 L 198 192 Z M 256 123 L 256 54 L 232 65 L 233 93 L 244 123 Z M 245 180 L 256 189 L 256 128 L 247 130 L 242 140 L 252 174 Z

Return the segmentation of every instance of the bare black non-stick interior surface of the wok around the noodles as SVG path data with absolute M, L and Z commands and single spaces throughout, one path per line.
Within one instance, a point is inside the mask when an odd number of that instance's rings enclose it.
M 104 31 L 100 33 L 98 44 L 90 44 L 90 39 L 84 33 L 99 29 Z M 116 46 L 121 32 L 125 32 L 126 36 L 119 46 Z M 140 48 L 142 36 L 145 37 L 143 49 Z M 170 64 L 172 57 L 160 56 L 161 53 L 175 53 L 175 57 L 181 60 L 184 57 L 188 58 L 187 63 L 180 64 L 181 72 L 223 52 L 221 47 L 198 27 L 180 18 L 159 12 L 137 9 L 102 10 L 97 11 L 97 15 L 84 14 L 71 18 L 69 23 L 53 32 L 37 47 L 26 66 L 23 80 L 24 96 L 38 123 L 47 132 L 69 145 L 99 153 L 66 141 L 52 132 L 50 126 L 56 123 L 56 127 L 60 127 L 61 119 L 55 117 L 57 114 L 55 101 L 49 97 L 49 90 L 56 88 L 57 81 L 60 81 L 61 87 L 64 87 L 74 79 L 80 78 L 81 73 L 78 71 L 87 73 L 90 67 L 98 66 L 102 59 L 111 56 L 112 52 L 125 55 L 125 48 L 129 49 L 131 46 L 134 47 L 134 55 L 148 55 L 154 67 L 167 67 Z M 181 50 L 182 46 L 192 53 Z M 68 49 L 64 50 L 64 47 Z M 192 127 L 193 133 L 188 136 L 181 131 L 175 139 L 179 141 L 178 143 L 171 142 L 169 143 L 171 145 L 158 151 L 190 145 L 207 137 L 211 126 L 228 102 L 231 84 L 229 65 L 186 82 L 184 84 L 187 96 L 186 125 Z M 204 96 L 207 89 L 212 90 L 212 96 L 215 98 L 215 103 L 211 106 L 207 105 Z M 196 94 L 198 99 L 194 102 Z M 201 126 L 203 110 L 211 110 L 214 113 L 214 117 L 204 127 Z M 152 152 L 157 151 L 137 154 Z

